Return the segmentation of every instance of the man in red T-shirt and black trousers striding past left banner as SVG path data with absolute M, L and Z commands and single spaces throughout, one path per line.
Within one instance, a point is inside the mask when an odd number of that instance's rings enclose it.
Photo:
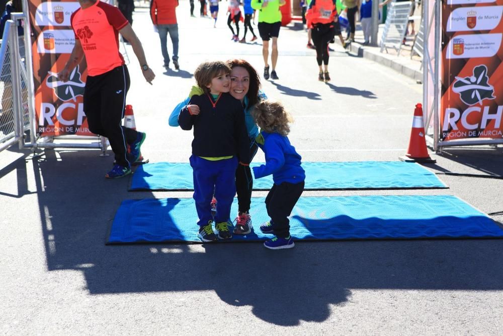
M 145 80 L 155 75 L 148 67 L 145 54 L 131 25 L 117 7 L 100 0 L 79 0 L 80 8 L 71 16 L 75 45 L 60 81 L 68 81 L 70 72 L 86 56 L 88 78 L 83 95 L 83 108 L 89 129 L 107 137 L 115 154 L 115 165 L 106 178 L 118 178 L 131 173 L 131 164 L 140 157 L 145 133 L 122 126 L 129 89 L 129 73 L 119 52 L 119 35 L 126 38 L 141 65 Z M 130 146 L 128 154 L 127 145 Z

